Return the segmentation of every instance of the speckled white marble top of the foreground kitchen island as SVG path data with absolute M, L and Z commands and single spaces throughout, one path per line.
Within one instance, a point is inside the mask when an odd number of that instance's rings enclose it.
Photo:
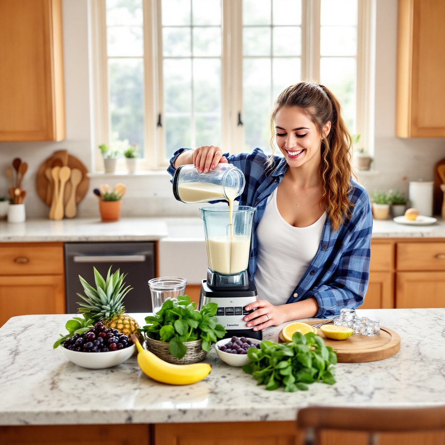
M 336 365 L 337 383 L 308 391 L 266 391 L 251 375 L 218 359 L 210 375 L 187 386 L 148 378 L 136 358 L 89 370 L 53 350 L 67 315 L 20 316 L 0 328 L 0 425 L 293 421 L 307 404 L 419 407 L 445 401 L 445 308 L 358 310 L 401 336 L 395 356 Z M 144 314 L 136 314 L 143 320 Z M 278 340 L 281 327 L 268 328 Z

